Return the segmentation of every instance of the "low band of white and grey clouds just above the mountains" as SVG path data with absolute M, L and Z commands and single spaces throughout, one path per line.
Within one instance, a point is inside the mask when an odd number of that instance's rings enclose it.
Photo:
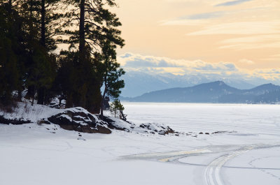
M 279 57 L 280 54 L 272 55 Z M 193 77 L 207 77 L 216 80 L 239 79 L 252 84 L 272 82 L 280 84 L 280 68 L 257 68 L 252 71 L 237 68 L 230 62 L 209 63 L 202 60 L 169 59 L 167 57 L 144 56 L 126 53 L 118 56 L 118 62 L 125 71 L 140 71 L 154 75 L 172 73 L 173 75 L 188 75 Z M 249 59 L 241 59 L 244 64 L 254 64 Z

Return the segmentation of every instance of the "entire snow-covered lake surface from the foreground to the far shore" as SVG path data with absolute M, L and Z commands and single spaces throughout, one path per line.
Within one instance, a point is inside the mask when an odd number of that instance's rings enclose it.
M 279 112 L 279 105 L 125 103 L 129 121 L 192 133 L 180 136 L 0 125 L 0 184 L 278 185 Z M 199 134 L 216 131 L 227 132 Z

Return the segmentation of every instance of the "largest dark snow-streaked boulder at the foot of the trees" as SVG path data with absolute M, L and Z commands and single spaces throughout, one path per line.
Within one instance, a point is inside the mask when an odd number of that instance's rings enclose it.
M 108 124 L 83 108 L 72 108 L 43 120 L 44 124 L 57 124 L 69 131 L 83 133 L 111 133 Z

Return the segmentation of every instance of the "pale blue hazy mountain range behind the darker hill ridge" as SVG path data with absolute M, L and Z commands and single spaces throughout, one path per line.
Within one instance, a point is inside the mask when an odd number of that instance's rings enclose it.
M 215 82 L 221 80 L 231 87 L 237 89 L 251 89 L 260 84 L 267 84 L 272 81 L 263 78 L 249 78 L 240 75 L 221 74 L 199 74 L 199 75 L 174 75 L 172 73 L 148 73 L 144 71 L 127 71 L 123 76 L 125 88 L 121 96 L 136 97 L 151 91 L 170 89 L 176 87 L 193 87 L 197 84 Z M 280 84 L 275 81 L 274 84 Z

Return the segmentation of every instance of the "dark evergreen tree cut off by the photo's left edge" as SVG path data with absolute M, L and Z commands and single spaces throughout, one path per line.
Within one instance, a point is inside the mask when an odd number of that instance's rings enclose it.
M 20 17 L 13 9 L 13 1 L 0 3 L 0 103 L 12 101 L 12 91 L 20 87 L 19 60 L 17 56 L 20 36 Z

